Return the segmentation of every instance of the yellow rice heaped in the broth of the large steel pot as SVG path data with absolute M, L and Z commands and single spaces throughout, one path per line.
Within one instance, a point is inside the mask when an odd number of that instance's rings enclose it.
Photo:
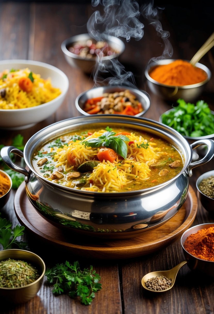
M 85 141 L 89 138 L 97 138 L 104 132 L 105 130 L 94 132 Z M 152 142 L 148 142 L 149 146 L 147 149 L 137 147 L 142 142 L 147 143 L 147 140 L 142 136 L 136 136 L 134 133 L 126 136 L 130 141 L 134 142 L 131 145 L 127 145 L 127 158 L 118 160 L 117 156 L 116 160 L 112 163 L 110 161 L 103 161 L 98 164 L 89 176 L 90 187 L 82 187 L 81 190 L 120 192 L 121 188 L 133 180 L 136 181 L 136 184 L 140 184 L 140 181 L 149 178 L 151 171 L 149 165 L 158 161 L 163 156 L 163 152 Z M 56 154 L 54 155 L 54 161 L 57 162 L 56 167 L 62 166 L 65 171 L 70 171 L 87 160 L 96 160 L 100 148 L 88 147 L 79 140 L 75 142 L 71 141 L 68 146 L 65 145 L 63 148 L 56 148 Z M 76 165 L 69 165 L 67 154 L 71 154 L 75 158 Z M 71 182 L 65 182 L 65 185 L 70 186 Z

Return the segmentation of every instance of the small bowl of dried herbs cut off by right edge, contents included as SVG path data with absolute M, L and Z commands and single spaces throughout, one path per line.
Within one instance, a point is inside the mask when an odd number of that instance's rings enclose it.
M 214 214 L 214 170 L 203 173 L 196 181 L 197 196 L 201 205 L 211 214 Z

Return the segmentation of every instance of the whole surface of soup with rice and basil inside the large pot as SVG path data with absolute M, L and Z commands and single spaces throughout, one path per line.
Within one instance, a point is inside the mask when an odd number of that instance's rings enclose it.
M 34 154 L 35 170 L 48 181 L 89 192 L 154 187 L 183 168 L 179 151 L 156 135 L 131 128 L 73 131 Z

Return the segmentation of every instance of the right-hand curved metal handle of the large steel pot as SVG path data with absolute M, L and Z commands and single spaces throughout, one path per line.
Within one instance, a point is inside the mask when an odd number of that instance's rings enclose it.
M 214 156 L 214 141 L 213 140 L 203 139 L 203 140 L 198 140 L 190 144 L 192 149 L 195 149 L 201 145 L 207 146 L 208 148 L 207 153 L 202 159 L 190 163 L 189 167 L 186 169 L 186 173 L 188 176 L 192 176 L 193 168 L 206 164 L 206 162 L 210 161 L 212 157 Z

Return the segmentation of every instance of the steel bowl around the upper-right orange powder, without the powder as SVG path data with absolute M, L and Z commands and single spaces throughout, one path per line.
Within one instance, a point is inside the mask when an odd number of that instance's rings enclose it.
M 204 90 L 206 86 L 206 83 L 211 78 L 211 71 L 205 65 L 198 62 L 195 64 L 196 67 L 201 68 L 207 74 L 206 80 L 197 84 L 184 85 L 184 86 L 169 86 L 169 85 L 165 85 L 165 84 L 161 84 L 157 82 L 156 80 L 151 78 L 151 76 L 149 75 L 149 72 L 155 66 L 169 64 L 169 63 L 172 63 L 173 61 L 175 61 L 175 59 L 158 60 L 156 62 L 150 63 L 147 66 L 145 70 L 145 76 L 147 78 L 147 84 L 149 88 L 151 89 L 153 94 L 158 95 L 159 97 L 165 100 L 175 101 L 175 100 L 178 100 L 179 98 L 182 98 L 185 101 L 196 100 L 199 97 L 199 95 L 201 95 L 202 91 Z

